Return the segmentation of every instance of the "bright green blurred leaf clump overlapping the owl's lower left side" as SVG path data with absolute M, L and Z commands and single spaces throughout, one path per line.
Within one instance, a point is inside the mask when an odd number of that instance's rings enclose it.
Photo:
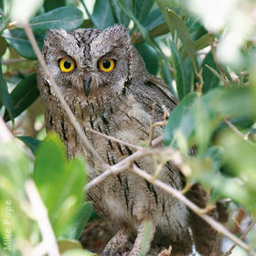
M 58 238 L 72 225 L 84 201 L 84 167 L 81 159 L 67 161 L 64 146 L 55 133 L 48 133 L 37 149 L 34 179 Z

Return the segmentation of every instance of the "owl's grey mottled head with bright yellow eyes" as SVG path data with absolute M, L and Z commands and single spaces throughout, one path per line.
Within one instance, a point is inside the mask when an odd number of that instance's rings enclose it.
M 63 93 L 72 91 L 91 97 L 102 90 L 122 90 L 126 83 L 148 76 L 123 26 L 48 30 L 43 56 Z M 39 68 L 39 72 L 43 69 Z

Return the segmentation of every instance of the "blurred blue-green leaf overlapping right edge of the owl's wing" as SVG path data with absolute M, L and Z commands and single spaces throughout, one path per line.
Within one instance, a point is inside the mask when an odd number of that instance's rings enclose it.
M 178 130 L 187 138 L 194 132 L 195 122 L 192 106 L 197 99 L 197 92 L 188 94 L 178 103 L 175 110 L 171 113 L 165 126 L 165 145 L 173 144 L 175 140 L 175 133 Z

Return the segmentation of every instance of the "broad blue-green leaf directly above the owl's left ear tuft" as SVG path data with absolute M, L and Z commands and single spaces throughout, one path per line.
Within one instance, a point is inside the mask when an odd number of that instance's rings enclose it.
M 45 34 L 48 29 L 74 29 L 80 27 L 82 22 L 83 14 L 80 9 L 63 6 L 43 15 L 31 18 L 29 24 L 34 32 Z

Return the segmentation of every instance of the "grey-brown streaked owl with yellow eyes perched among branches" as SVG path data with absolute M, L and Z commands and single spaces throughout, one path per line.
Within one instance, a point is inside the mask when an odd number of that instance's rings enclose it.
M 164 109 L 172 112 L 176 107 L 176 99 L 165 82 L 145 69 L 123 26 L 48 30 L 42 54 L 70 110 L 108 165 L 133 155 L 135 149 L 129 144 L 148 141 L 153 103 L 155 122 L 162 121 Z M 90 180 L 101 175 L 104 168 L 83 147 L 40 66 L 37 83 L 45 105 L 47 131 L 59 133 L 69 158 L 86 155 Z M 163 127 L 155 128 L 155 137 L 162 133 Z M 129 144 L 113 141 L 110 136 Z M 134 165 L 151 175 L 155 173 L 150 156 L 136 160 Z M 172 163 L 165 164 L 158 178 L 178 190 L 185 186 L 184 176 Z M 201 207 L 206 205 L 204 191 L 197 185 L 187 197 Z M 172 255 L 189 255 L 193 243 L 202 255 L 219 255 L 217 234 L 207 223 L 178 199 L 129 169 L 92 187 L 88 199 L 113 233 L 102 255 L 140 255 L 148 223 L 153 228 L 148 231 L 149 241 L 144 246 L 147 255 L 157 255 L 154 250 L 170 245 Z

